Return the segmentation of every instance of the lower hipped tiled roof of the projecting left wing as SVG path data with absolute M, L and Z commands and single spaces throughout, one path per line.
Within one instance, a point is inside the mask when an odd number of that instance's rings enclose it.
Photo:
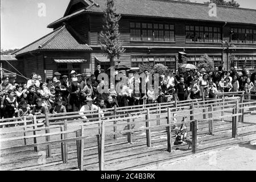
M 79 38 L 75 38 L 71 32 L 62 26 L 43 36 L 35 42 L 16 51 L 14 54 L 19 56 L 23 53 L 36 50 L 92 50 L 87 44 L 81 43 Z

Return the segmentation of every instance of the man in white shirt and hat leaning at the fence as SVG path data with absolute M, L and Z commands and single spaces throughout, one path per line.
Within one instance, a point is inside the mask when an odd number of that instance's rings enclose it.
M 93 113 L 96 113 L 95 110 L 98 110 L 98 106 L 93 104 L 93 99 L 90 97 L 87 97 L 85 102 L 86 102 L 86 105 L 83 105 L 81 107 L 80 109 L 81 113 L 79 113 L 80 115 L 82 115 L 82 118 L 87 119 L 87 118 L 93 118 L 93 116 L 98 117 L 98 115 L 93 114 Z M 90 111 L 90 112 L 85 112 L 85 111 Z M 84 115 L 89 113 L 92 115 L 87 115 L 87 117 Z M 100 109 L 100 113 L 102 113 L 101 117 L 104 117 L 103 111 L 101 109 Z

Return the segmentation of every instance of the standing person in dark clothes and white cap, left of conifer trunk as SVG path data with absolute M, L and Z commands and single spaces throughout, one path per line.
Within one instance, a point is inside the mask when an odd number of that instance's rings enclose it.
M 72 110 L 79 111 L 80 109 L 80 87 L 78 86 L 77 78 L 72 79 L 72 85 L 69 86 L 70 101 L 69 104 L 72 106 Z

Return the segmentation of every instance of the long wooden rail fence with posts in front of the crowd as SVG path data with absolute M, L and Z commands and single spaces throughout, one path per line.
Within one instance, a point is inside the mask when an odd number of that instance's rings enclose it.
M 9 131 L 6 133 L 0 133 L 0 135 L 8 135 L 13 133 L 23 133 L 23 137 L 12 137 L 0 139 L 0 142 L 11 142 L 15 140 L 24 140 L 24 145 L 16 145 L 6 148 L 1 148 L 1 150 L 23 148 L 23 147 L 34 147 L 35 151 L 38 151 L 38 147 L 47 146 L 47 156 L 51 157 L 51 145 L 60 144 L 61 146 L 61 158 L 63 163 L 68 162 L 68 142 L 76 142 L 77 146 L 77 163 L 80 170 L 84 169 L 84 141 L 89 138 L 97 137 L 98 146 L 98 161 L 99 169 L 104 170 L 104 150 L 105 150 L 105 136 L 113 135 L 114 138 L 117 134 L 127 134 L 127 142 L 131 143 L 133 141 L 132 133 L 138 131 L 146 131 L 146 145 L 151 147 L 151 130 L 158 129 L 160 127 L 166 127 L 167 130 L 167 151 L 172 152 L 172 139 L 171 132 L 174 125 L 180 124 L 180 122 L 174 123 L 173 120 L 176 115 L 182 115 L 183 117 L 188 117 L 189 121 L 182 122 L 184 124 L 190 125 L 192 131 L 192 152 L 196 152 L 197 146 L 197 126 L 198 123 L 203 121 L 209 122 L 209 134 L 214 134 L 214 119 L 223 119 L 232 117 L 232 137 L 237 137 L 237 125 L 238 121 L 243 122 L 243 111 L 245 109 L 255 108 L 256 101 L 241 102 L 241 100 L 229 100 L 225 101 L 225 98 L 217 100 L 194 100 L 194 101 L 181 101 L 181 102 L 168 102 L 164 104 L 152 104 L 152 105 L 141 105 L 141 106 L 131 106 L 129 107 L 115 107 L 114 109 L 108 109 L 104 112 L 105 116 L 101 117 L 99 111 L 96 113 L 84 112 L 80 115 L 80 112 L 65 113 L 65 114 L 46 114 L 45 118 L 40 117 L 24 117 L 12 119 L 3 119 L 0 125 L 10 125 L 14 123 L 22 124 L 22 126 L 17 126 L 18 128 L 23 128 L 19 131 Z M 196 110 L 203 109 L 203 114 L 205 117 L 203 119 L 194 119 L 195 116 L 201 115 L 202 112 L 196 113 Z M 207 111 L 208 109 L 208 111 Z M 189 112 L 189 114 L 183 114 L 184 111 Z M 219 113 L 221 115 L 213 117 L 214 113 Z M 232 112 L 232 114 L 225 115 L 226 112 Z M 166 113 L 167 116 L 163 116 Z M 110 114 L 110 115 L 108 115 Z M 69 118 L 80 118 L 82 116 L 94 115 L 94 118 L 89 119 L 78 119 L 78 121 L 86 122 L 75 124 L 79 129 L 68 130 L 67 123 Z M 208 115 L 208 118 L 206 118 Z M 156 117 L 152 118 L 152 117 Z M 238 119 L 241 117 L 241 120 Z M 144 123 L 143 128 L 132 129 L 132 125 L 137 123 L 135 119 L 141 118 Z M 59 121 L 63 120 L 63 121 Z M 40 122 L 39 122 L 40 121 Z M 51 125 L 51 121 L 54 122 Z M 121 122 L 127 121 L 127 122 Z M 151 126 L 152 122 L 156 121 L 156 125 Z M 161 123 L 162 122 L 162 123 Z M 97 125 L 97 126 L 96 126 Z M 117 126 L 127 126 L 127 130 L 118 130 Z M 43 127 L 42 127 L 43 126 Z M 15 128 L 17 128 L 15 127 Z M 32 127 L 32 129 L 28 129 Z M 113 131 L 107 130 L 108 128 L 113 128 Z M 60 129 L 57 132 L 50 132 L 51 129 Z M 98 132 L 96 134 L 87 134 L 86 131 L 89 129 L 96 129 Z M 45 131 L 45 134 L 36 134 L 36 131 Z M 26 135 L 26 133 L 33 132 L 33 135 Z M 75 134 L 76 137 L 68 137 L 68 134 Z M 58 135 L 60 139 L 51 140 L 52 136 Z M 34 139 L 34 143 L 28 144 L 27 139 Z M 46 142 L 37 142 L 37 138 L 46 138 Z

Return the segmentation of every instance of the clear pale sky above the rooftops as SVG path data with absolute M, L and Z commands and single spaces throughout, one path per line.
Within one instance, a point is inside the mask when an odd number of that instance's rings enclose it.
M 197 0 L 204 1 L 207 0 Z M 236 1 L 240 7 L 256 9 L 255 0 Z M 68 3 L 69 0 L 1 0 L 1 49 L 22 48 L 47 35 L 52 31 L 47 24 L 63 17 Z

